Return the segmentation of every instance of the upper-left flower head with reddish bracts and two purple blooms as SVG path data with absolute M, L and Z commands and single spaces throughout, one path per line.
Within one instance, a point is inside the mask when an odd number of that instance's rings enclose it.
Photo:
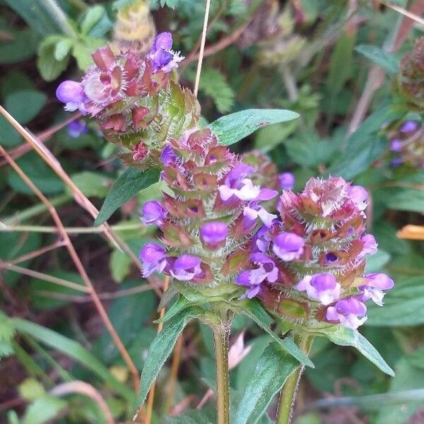
M 146 56 L 136 49 L 114 52 L 111 46 L 92 56 L 94 65 L 82 81 L 61 83 L 57 98 L 65 110 L 95 117 L 107 140 L 131 150 L 129 162 L 145 159 L 140 146 L 147 154 L 196 124 L 196 98 L 173 81 L 172 69 L 183 57 L 172 50 L 170 33 L 155 37 Z

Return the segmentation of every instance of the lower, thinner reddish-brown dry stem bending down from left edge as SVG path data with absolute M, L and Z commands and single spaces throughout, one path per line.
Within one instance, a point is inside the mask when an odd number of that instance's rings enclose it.
M 3 108 L 1 108 L 3 109 Z M 6 112 L 6 111 L 5 111 Z M 7 112 L 6 112 L 7 113 Z M 14 119 L 13 119 L 14 120 Z M 20 169 L 19 165 L 8 155 L 8 153 L 4 150 L 2 146 L 0 146 L 0 153 L 4 155 L 8 163 L 13 167 L 13 170 L 16 171 L 16 173 L 20 176 L 20 178 L 23 179 L 25 184 L 30 187 L 30 189 L 33 190 L 33 192 L 37 195 L 37 197 L 42 201 L 43 204 L 47 206 L 47 210 L 49 211 L 50 215 L 52 216 L 54 223 L 57 225 L 57 228 L 59 229 L 59 232 L 61 233 L 61 237 L 63 238 L 64 242 L 66 243 L 66 249 L 68 249 L 69 255 L 71 256 L 71 259 L 73 261 L 73 264 L 75 264 L 76 269 L 78 270 L 78 273 L 81 275 L 81 278 L 83 278 L 83 281 L 88 288 L 88 293 L 90 294 L 91 298 L 93 299 L 95 308 L 98 310 L 98 313 L 100 315 L 100 318 L 102 319 L 103 324 L 105 324 L 107 331 L 109 331 L 110 336 L 112 337 L 112 340 L 114 341 L 115 345 L 117 346 L 119 353 L 121 353 L 122 358 L 124 359 L 124 362 L 129 367 L 129 370 L 131 372 L 131 375 L 133 377 L 134 381 L 134 387 L 138 390 L 139 387 L 139 371 L 137 370 L 136 366 L 134 365 L 133 361 L 131 360 L 131 357 L 129 356 L 129 353 L 126 351 L 126 348 L 124 346 L 124 343 L 122 343 L 121 338 L 119 338 L 119 335 L 117 334 L 117 331 L 114 329 L 114 326 L 112 322 L 110 321 L 109 317 L 107 316 L 107 312 L 105 310 L 105 307 L 103 307 L 102 302 L 100 301 L 98 294 L 96 293 L 93 284 L 90 281 L 90 278 L 88 278 L 88 274 L 86 272 L 86 269 L 84 268 L 81 260 L 78 257 L 78 254 L 76 253 L 75 248 L 73 247 L 73 244 L 71 242 L 71 239 L 69 238 L 69 235 L 64 230 L 64 225 L 61 222 L 61 219 L 59 218 L 59 215 L 57 214 L 56 209 L 52 204 L 49 202 L 47 197 L 40 192 L 40 190 L 35 186 L 35 184 L 28 178 L 28 176 L 23 172 L 23 170 Z M 60 167 L 60 165 L 59 165 Z M 61 169 L 61 168 L 60 168 Z M 63 172 L 63 170 L 62 170 Z

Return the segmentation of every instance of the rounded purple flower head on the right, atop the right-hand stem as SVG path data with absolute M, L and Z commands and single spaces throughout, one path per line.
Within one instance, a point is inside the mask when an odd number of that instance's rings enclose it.
M 362 276 L 377 243 L 365 231 L 367 191 L 342 178 L 310 179 L 305 190 L 284 191 L 281 219 L 254 236 L 249 269 L 236 283 L 245 297 L 258 296 L 272 312 L 295 322 L 363 324 L 373 300 L 382 305 L 394 283 L 382 273 Z

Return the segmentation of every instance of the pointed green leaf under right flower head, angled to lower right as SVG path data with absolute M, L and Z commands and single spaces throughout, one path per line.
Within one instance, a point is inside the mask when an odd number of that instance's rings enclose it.
M 377 349 L 375 349 L 375 347 L 372 346 L 372 344 L 367 341 L 367 339 L 360 334 L 358 330 L 347 329 L 341 325 L 334 325 L 327 327 L 326 329 L 320 329 L 317 332 L 318 335 L 326 336 L 338 346 L 353 346 L 358 349 L 365 358 L 370 360 L 374 365 L 382 370 L 382 372 L 385 372 L 387 375 L 394 376 L 393 370 L 377 352 Z

